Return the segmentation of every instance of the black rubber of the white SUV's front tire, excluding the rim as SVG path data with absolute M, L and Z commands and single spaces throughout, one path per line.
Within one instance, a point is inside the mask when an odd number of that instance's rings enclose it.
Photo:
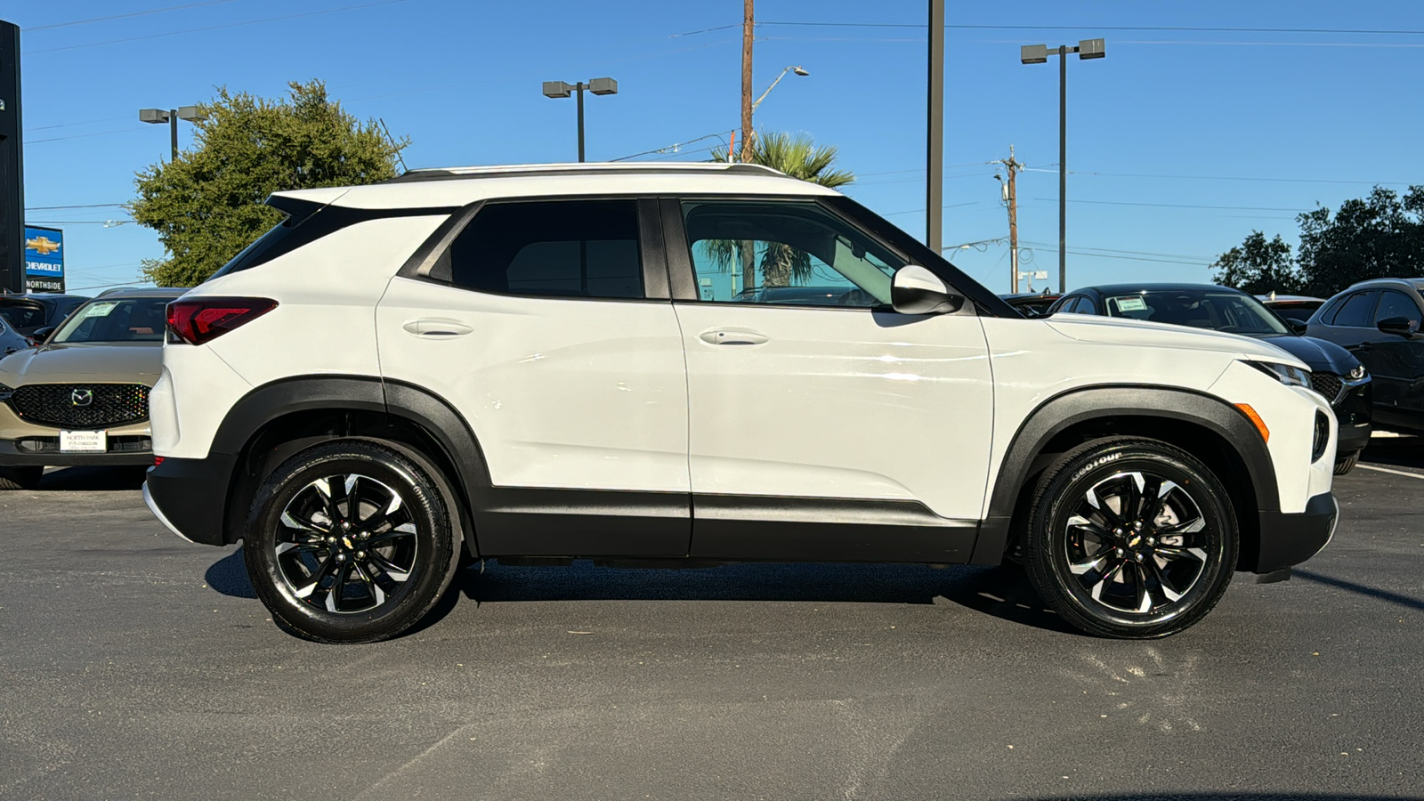
M 1098 482 L 1136 470 L 1176 482 L 1215 533 L 1202 576 L 1166 614 L 1129 614 L 1099 604 L 1068 570 L 1067 529 L 1077 502 Z M 1072 455 L 1048 480 L 1030 524 L 1030 569 L 1035 584 L 1062 617 L 1095 634 L 1149 639 L 1180 631 L 1216 606 L 1236 567 L 1239 537 L 1226 490 L 1205 465 L 1165 443 L 1119 443 Z

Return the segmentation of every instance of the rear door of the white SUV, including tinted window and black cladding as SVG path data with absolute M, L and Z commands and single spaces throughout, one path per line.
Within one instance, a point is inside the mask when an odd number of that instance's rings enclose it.
M 686 556 L 686 376 L 655 201 L 486 202 L 436 237 L 377 306 L 380 369 L 474 433 L 480 550 Z

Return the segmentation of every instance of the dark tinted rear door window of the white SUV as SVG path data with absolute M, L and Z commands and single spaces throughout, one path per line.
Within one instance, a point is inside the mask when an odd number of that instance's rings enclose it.
M 450 282 L 558 298 L 642 298 L 632 200 L 490 204 L 450 245 Z

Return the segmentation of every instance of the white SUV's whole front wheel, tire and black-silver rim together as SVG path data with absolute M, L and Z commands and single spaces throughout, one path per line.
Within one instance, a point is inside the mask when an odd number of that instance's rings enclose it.
M 1148 506 L 1153 496 L 1161 503 Z M 1125 503 L 1135 513 L 1121 516 Z M 1230 497 L 1205 465 L 1165 442 L 1121 438 L 1074 448 L 1044 472 L 1024 552 L 1030 582 L 1065 621 L 1146 640 L 1206 616 L 1237 549 Z

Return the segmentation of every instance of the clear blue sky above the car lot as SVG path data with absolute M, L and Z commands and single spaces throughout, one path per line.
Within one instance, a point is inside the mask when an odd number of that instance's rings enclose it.
M 1253 228 L 1294 241 L 1299 211 L 1424 182 L 1424 3 L 948 6 L 961 27 L 947 34 L 944 242 L 980 242 L 951 259 L 997 292 L 1008 249 L 990 239 L 1008 224 L 987 162 L 1010 144 L 1030 168 L 1022 269 L 1057 281 L 1057 64 L 1020 64 L 1020 44 L 1106 38 L 1106 58 L 1068 64 L 1071 286 L 1205 281 Z M 138 108 L 216 86 L 278 95 L 322 78 L 357 117 L 409 135 L 410 167 L 437 167 L 572 161 L 574 103 L 540 83 L 611 76 L 619 94 L 588 98 L 591 161 L 674 143 L 691 144 L 658 158 L 705 160 L 739 121 L 740 13 L 739 0 L 11 0 L 27 219 L 66 229 L 71 288 L 137 281 L 140 259 L 162 255 L 151 231 L 105 227 L 127 219 L 117 207 L 44 207 L 128 201 L 134 172 L 168 153 Z M 118 14 L 132 16 L 66 24 Z M 839 145 L 860 177 L 849 194 L 923 238 L 924 3 L 759 0 L 758 19 L 758 91 L 790 64 L 810 76 L 782 81 L 756 125 Z M 1366 29 L 1384 33 L 1341 33 Z

